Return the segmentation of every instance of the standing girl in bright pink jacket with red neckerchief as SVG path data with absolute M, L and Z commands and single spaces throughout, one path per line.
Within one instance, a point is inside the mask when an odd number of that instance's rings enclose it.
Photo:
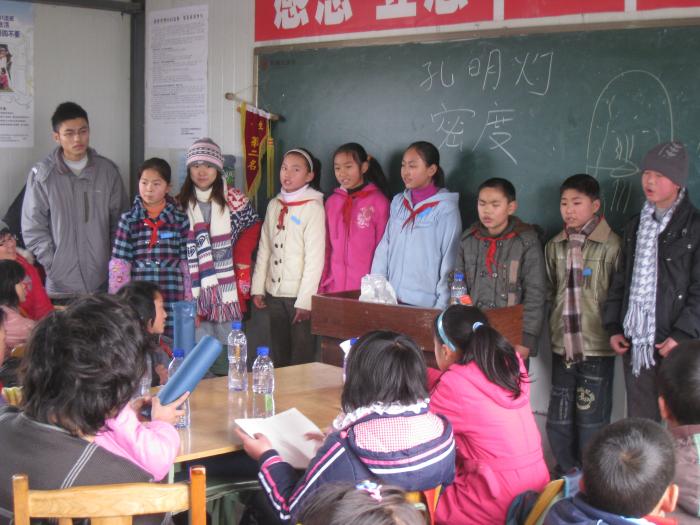
M 326 264 L 321 292 L 359 290 L 389 220 L 386 178 L 379 163 L 355 142 L 333 154 L 340 183 L 326 201 Z

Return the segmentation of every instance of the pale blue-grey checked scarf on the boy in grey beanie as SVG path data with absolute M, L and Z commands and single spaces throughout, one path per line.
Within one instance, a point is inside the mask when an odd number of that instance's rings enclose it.
M 632 342 L 632 373 L 639 376 L 642 367 L 651 368 L 656 340 L 656 287 L 658 271 L 659 235 L 666 229 L 685 189 L 659 222 L 654 218 L 655 207 L 644 203 L 637 228 L 637 246 L 630 287 L 629 306 L 622 324 L 625 336 Z

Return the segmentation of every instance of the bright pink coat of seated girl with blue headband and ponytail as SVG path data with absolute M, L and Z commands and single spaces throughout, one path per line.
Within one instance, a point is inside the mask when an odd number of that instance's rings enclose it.
M 457 443 L 455 481 L 440 497 L 436 523 L 504 523 L 516 495 L 549 482 L 529 383 L 513 399 L 472 362 L 442 374 L 429 368 L 428 387 L 430 410 L 452 423 Z

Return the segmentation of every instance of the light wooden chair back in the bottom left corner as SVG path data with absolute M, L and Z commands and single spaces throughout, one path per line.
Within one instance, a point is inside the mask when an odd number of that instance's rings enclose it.
M 130 525 L 133 516 L 190 510 L 191 525 L 206 525 L 206 471 L 190 468 L 189 483 L 122 483 L 31 490 L 25 474 L 12 476 L 15 525 L 30 518 L 90 518 L 93 525 Z

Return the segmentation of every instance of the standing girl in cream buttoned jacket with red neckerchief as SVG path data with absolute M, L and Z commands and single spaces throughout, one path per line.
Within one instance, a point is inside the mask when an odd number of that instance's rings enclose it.
M 315 360 L 311 296 L 318 291 L 326 250 L 326 216 L 318 191 L 320 166 L 305 149 L 282 158 L 282 190 L 267 206 L 251 293 L 270 316 L 275 366 Z

